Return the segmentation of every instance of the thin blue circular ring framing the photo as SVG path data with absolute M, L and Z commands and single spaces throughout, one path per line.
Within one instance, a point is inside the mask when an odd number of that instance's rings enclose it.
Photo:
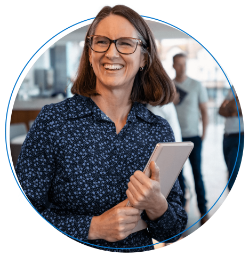
M 163 23 L 165 23 L 165 24 L 167 24 L 167 25 L 170 25 L 171 27 L 174 27 L 174 28 L 176 28 L 176 29 L 181 30 L 183 33 L 185 33 L 185 34 L 187 34 L 188 36 L 192 37 L 192 36 L 189 35 L 186 31 L 184 31 L 184 30 L 182 30 L 182 29 L 180 29 L 180 28 L 178 28 L 178 27 L 176 27 L 176 26 L 174 26 L 174 25 L 172 25 L 171 23 L 168 23 L 168 22 L 166 22 L 166 21 L 159 20 L 159 19 L 152 18 L 152 17 L 145 16 L 145 15 L 141 15 L 141 17 L 149 18 L 149 19 L 152 19 L 152 20 L 157 20 L 157 21 L 163 22 Z M 71 28 L 71 27 L 74 27 L 74 26 L 76 26 L 76 25 L 78 25 L 78 24 L 80 24 L 80 23 L 83 23 L 83 22 L 89 21 L 89 20 L 93 20 L 93 19 L 95 19 L 95 18 L 90 18 L 90 19 L 86 19 L 86 20 L 77 22 L 77 23 L 75 23 L 74 25 L 71 25 L 71 26 L 69 26 L 69 27 L 67 27 L 67 28 L 65 28 L 65 29 L 63 29 L 63 30 L 61 30 L 59 33 L 57 33 L 56 35 L 54 35 L 53 37 L 51 37 L 48 41 L 46 41 L 41 47 L 39 47 L 39 49 L 32 55 L 32 57 L 28 60 L 28 62 L 26 63 L 26 65 L 23 67 L 21 73 L 19 74 L 19 76 L 18 76 L 18 78 L 17 78 L 17 81 L 15 81 L 13 90 L 12 90 L 12 92 L 11 92 L 10 99 L 9 99 L 9 103 L 8 103 L 8 106 L 7 106 L 6 116 L 5 116 L 5 147 L 6 147 L 7 157 L 8 157 L 8 160 L 9 160 L 9 164 L 10 164 L 11 171 L 12 171 L 12 174 L 13 174 L 13 176 L 14 176 L 14 179 L 15 179 L 15 181 L 17 182 L 17 185 L 18 185 L 19 189 L 21 190 L 21 193 L 23 194 L 23 196 L 25 196 L 25 198 L 26 198 L 26 200 L 27 200 L 28 202 L 29 202 L 29 200 L 28 200 L 28 198 L 26 197 L 26 195 L 23 193 L 23 191 L 22 191 L 22 189 L 21 189 L 21 187 L 20 187 L 20 185 L 19 185 L 19 183 L 18 183 L 18 180 L 17 180 L 17 178 L 15 177 L 15 174 L 14 174 L 14 172 L 13 172 L 12 165 L 11 165 L 11 161 L 10 161 L 10 156 L 9 156 L 9 151 L 8 151 L 8 147 L 7 147 L 7 138 L 6 138 L 6 132 L 7 132 L 7 130 L 6 130 L 7 115 L 8 115 L 8 113 L 9 113 L 10 102 L 11 102 L 11 98 L 12 98 L 12 95 L 13 95 L 13 92 L 14 92 L 14 89 L 15 89 L 15 86 L 17 85 L 17 83 L 18 83 L 18 81 L 19 81 L 19 78 L 20 78 L 21 74 L 23 73 L 23 71 L 25 70 L 25 68 L 27 67 L 28 63 L 29 63 L 29 62 L 33 59 L 33 57 L 39 52 L 39 50 L 42 49 L 43 46 L 45 46 L 47 43 L 49 43 L 54 37 L 60 35 L 63 31 L 66 31 L 67 29 L 69 29 L 69 28 Z M 192 37 L 192 38 L 195 39 L 194 37 Z M 202 45 L 198 40 L 195 39 L 195 41 L 198 42 L 200 45 Z M 202 45 L 202 46 L 206 49 L 206 47 L 205 47 L 204 45 Z M 212 53 L 211 53 L 210 51 L 208 51 L 207 49 L 206 49 L 206 51 L 207 51 L 208 53 L 210 53 L 210 55 L 213 57 L 213 55 L 212 55 Z M 224 73 L 224 71 L 223 71 L 222 67 L 220 66 L 219 62 L 218 62 L 214 57 L 213 57 L 213 59 L 214 59 L 214 60 L 216 61 L 216 63 L 219 65 L 219 67 L 221 68 L 223 74 L 224 74 L 224 75 L 226 76 L 226 78 L 227 78 L 227 75 Z M 231 87 L 231 84 L 230 84 L 228 78 L 227 78 L 227 81 L 228 81 L 228 83 L 229 83 L 229 85 L 230 85 L 230 87 Z M 231 87 L 231 88 L 232 88 L 232 87 Z M 233 90 L 232 90 L 232 94 L 234 94 L 234 91 L 233 91 Z M 235 98 L 235 94 L 234 94 L 234 98 Z M 238 119 L 239 119 L 239 110 L 238 110 L 237 101 L 235 100 L 235 102 L 236 102 L 236 107 L 237 107 L 237 112 L 238 112 Z M 239 119 L 239 145 L 240 145 L 240 119 Z M 236 166 L 236 163 L 237 163 L 237 158 L 238 158 L 238 153 L 239 153 L 239 145 L 238 145 L 238 151 L 237 151 L 237 157 L 236 157 L 234 169 L 235 169 L 235 166 Z M 227 182 L 227 185 L 226 185 L 226 187 L 224 188 L 224 190 L 225 190 L 225 189 L 227 188 L 227 186 L 228 186 L 228 183 L 229 183 L 229 181 L 230 181 L 230 179 L 231 179 L 231 177 L 232 177 L 232 174 L 234 173 L 234 169 L 232 170 L 231 176 L 230 176 L 230 178 L 229 178 L 229 180 L 228 180 L 228 182 Z M 222 191 L 221 195 L 220 195 L 219 198 L 216 200 L 216 202 L 213 204 L 213 206 L 210 208 L 210 210 L 211 210 L 211 209 L 214 207 L 214 205 L 218 202 L 218 200 L 220 199 L 220 197 L 221 197 L 222 194 L 224 193 L 224 190 Z M 54 227 L 55 229 L 59 230 L 61 233 L 63 233 L 63 234 L 65 234 L 65 235 L 69 236 L 68 234 L 66 234 L 66 233 L 64 233 L 63 231 L 61 231 L 60 229 L 58 229 L 57 227 L 53 226 L 49 221 L 47 221 L 47 220 L 35 209 L 35 207 L 34 207 L 30 202 L 29 202 L 29 204 L 33 207 L 33 209 L 34 209 L 47 223 L 49 223 L 49 224 L 50 224 L 52 227 Z M 208 210 L 207 213 L 210 212 L 210 210 Z M 206 214 L 207 214 L 207 213 L 206 213 Z M 205 215 L 206 215 L 206 214 L 205 214 Z M 204 215 L 204 216 L 205 216 L 205 215 Z M 203 216 L 203 217 L 204 217 L 204 216 Z M 202 218 L 203 218 L 203 217 L 202 217 Z M 200 218 L 198 221 L 196 221 L 192 226 L 196 225 L 196 223 L 199 222 L 202 218 Z M 192 226 L 191 226 L 191 227 L 192 227 Z M 172 239 L 172 238 L 174 238 L 174 237 L 176 237 L 176 236 L 179 236 L 180 234 L 184 233 L 185 231 L 187 231 L 187 230 L 190 229 L 191 227 L 189 227 L 189 228 L 187 228 L 186 230 L 182 231 L 182 232 L 179 233 L 178 235 L 175 235 L 175 236 L 173 236 L 173 237 L 171 237 L 171 238 L 168 238 L 168 239 L 166 239 L 166 240 L 164 240 L 164 241 L 162 241 L 162 242 L 158 242 L 158 243 L 156 243 L 156 244 L 164 243 L 164 242 L 168 241 L 169 239 Z M 81 240 L 79 240 L 79 239 L 77 239 L 77 238 L 74 238 L 74 237 L 72 237 L 72 236 L 69 236 L 69 237 L 71 237 L 71 238 L 73 238 L 73 239 L 76 239 L 76 240 L 78 240 L 79 242 L 83 242 L 83 241 L 81 241 Z M 83 242 L 83 243 L 85 243 L 85 244 L 90 244 L 90 243 L 86 243 L 86 242 Z M 148 246 L 152 246 L 152 245 L 155 245 L 155 244 L 150 244 L 150 245 L 140 246 L 140 247 L 132 247 L 132 248 L 115 248 L 115 247 L 99 246 L 99 245 L 95 245 L 95 244 L 90 244 L 90 245 L 97 246 L 97 247 L 102 247 L 102 248 L 108 248 L 108 249 L 116 249 L 116 250 L 117 250 L 117 249 L 123 249 L 123 250 L 127 250 L 127 249 L 138 249 L 138 248 L 142 248 L 142 247 L 148 247 Z

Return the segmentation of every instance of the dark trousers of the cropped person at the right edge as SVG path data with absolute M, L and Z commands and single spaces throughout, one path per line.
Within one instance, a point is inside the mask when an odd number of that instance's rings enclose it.
M 240 144 L 239 144 L 239 134 L 230 134 L 230 135 L 224 134 L 223 153 L 224 153 L 224 158 L 228 168 L 229 178 L 231 176 L 232 170 L 234 170 L 234 173 L 232 173 L 232 177 L 228 183 L 229 190 L 231 190 L 232 186 L 234 186 L 234 182 L 239 172 L 239 167 L 242 162 L 242 156 L 244 151 L 244 140 L 245 140 L 244 134 L 240 135 Z M 239 153 L 238 153 L 238 146 L 239 146 Z M 238 158 L 237 158 L 237 153 L 238 153 Z M 236 158 L 237 158 L 237 162 L 235 165 Z

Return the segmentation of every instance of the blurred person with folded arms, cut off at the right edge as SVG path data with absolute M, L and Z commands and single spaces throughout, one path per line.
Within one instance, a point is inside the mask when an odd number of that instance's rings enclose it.
M 232 90 L 234 94 L 232 94 Z M 227 164 L 229 178 L 231 177 L 232 170 L 234 173 L 228 183 L 229 190 L 234 186 L 235 180 L 237 178 L 239 167 L 242 162 L 242 156 L 244 151 L 244 141 L 245 141 L 245 132 L 244 132 L 244 122 L 242 109 L 239 103 L 238 95 L 232 86 L 232 90 L 229 91 L 226 99 L 222 102 L 219 114 L 226 117 L 225 127 L 224 127 L 224 139 L 223 139 L 223 153 L 224 159 Z M 236 102 L 238 105 L 238 110 Z M 238 111 L 239 111 L 239 120 L 238 120 Z M 239 143 L 239 121 L 240 121 L 240 143 Z M 238 151 L 239 147 L 239 151 Z M 238 158 L 237 158 L 238 154 Z M 237 162 L 235 165 L 235 161 Z M 228 179 L 229 179 L 228 178 Z

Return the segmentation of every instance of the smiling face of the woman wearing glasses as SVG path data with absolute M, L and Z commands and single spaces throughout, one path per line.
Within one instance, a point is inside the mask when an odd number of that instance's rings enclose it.
M 138 38 L 132 23 L 119 15 L 110 15 L 101 20 L 94 35 L 106 36 L 112 40 L 121 37 Z M 114 43 L 110 45 L 106 52 L 94 52 L 89 48 L 89 60 L 97 76 L 96 90 L 100 92 L 103 86 L 110 89 L 131 90 L 136 73 L 138 73 L 140 67 L 144 67 L 145 63 L 141 47 L 141 43 L 138 43 L 138 47 L 132 54 L 119 53 Z M 121 65 L 122 68 L 106 69 L 106 65 Z

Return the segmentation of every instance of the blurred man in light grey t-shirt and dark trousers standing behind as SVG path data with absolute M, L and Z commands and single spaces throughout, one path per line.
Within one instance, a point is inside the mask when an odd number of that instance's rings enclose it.
M 205 188 L 200 170 L 200 155 L 202 141 L 205 138 L 208 123 L 206 107 L 206 102 L 208 100 L 207 91 L 200 82 L 191 79 L 186 75 L 186 55 L 182 53 L 176 54 L 173 57 L 173 68 L 176 71 L 176 76 L 173 81 L 178 91 L 174 104 L 181 127 L 182 141 L 192 141 L 194 143 L 194 149 L 189 156 L 189 160 L 195 180 L 198 208 L 200 216 L 203 217 L 207 212 L 207 201 L 205 199 Z M 203 123 L 202 137 L 199 137 L 198 130 L 200 114 Z M 185 185 L 182 172 L 179 175 L 179 182 L 183 191 L 182 204 L 184 206 L 186 199 L 184 198 Z M 203 225 L 206 221 L 207 216 L 205 215 L 200 222 Z

